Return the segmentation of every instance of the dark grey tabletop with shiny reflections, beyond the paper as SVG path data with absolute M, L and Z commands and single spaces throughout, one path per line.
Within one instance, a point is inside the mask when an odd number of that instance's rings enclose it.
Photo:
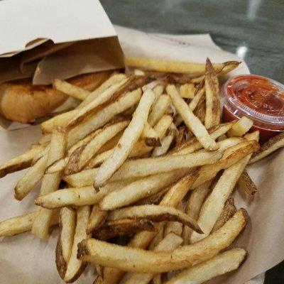
M 101 0 L 111 22 L 150 33 L 210 33 L 251 73 L 284 83 L 284 1 Z M 273 252 L 271 252 L 273 253 Z M 284 262 L 265 284 L 284 283 Z

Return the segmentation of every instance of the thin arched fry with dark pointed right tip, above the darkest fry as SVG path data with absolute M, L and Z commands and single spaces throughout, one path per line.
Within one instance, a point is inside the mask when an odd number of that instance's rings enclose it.
M 109 213 L 108 220 L 118 219 L 149 219 L 152 221 L 177 221 L 202 234 L 200 227 L 196 226 L 195 219 L 192 219 L 182 211 L 165 205 L 140 205 L 117 209 Z

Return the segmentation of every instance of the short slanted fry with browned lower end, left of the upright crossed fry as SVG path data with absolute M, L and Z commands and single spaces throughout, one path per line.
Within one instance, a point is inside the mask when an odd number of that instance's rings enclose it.
M 43 155 L 28 171 L 23 175 L 23 177 L 17 182 L 15 190 L 16 200 L 22 200 L 26 197 L 35 185 L 43 178 L 45 173 L 46 165 L 48 164 L 48 153 Z

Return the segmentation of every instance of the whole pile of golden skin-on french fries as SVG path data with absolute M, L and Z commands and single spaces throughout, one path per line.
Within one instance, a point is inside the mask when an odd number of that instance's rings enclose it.
M 41 182 L 36 212 L 2 221 L 0 236 L 45 238 L 59 224 L 65 283 L 87 263 L 105 284 L 204 283 L 235 270 L 246 251 L 224 249 L 248 216 L 231 194 L 238 183 L 255 194 L 246 165 L 284 146 L 284 135 L 260 148 L 250 119 L 221 122 L 218 77 L 239 62 L 127 62 L 129 76 L 115 73 L 94 92 L 55 80 L 80 104 L 43 122 L 38 143 L 0 166 L 0 177 L 28 168 L 17 200 Z

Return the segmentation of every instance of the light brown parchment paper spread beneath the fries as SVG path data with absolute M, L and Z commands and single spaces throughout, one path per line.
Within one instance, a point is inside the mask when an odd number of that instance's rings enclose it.
M 178 54 L 179 58 L 182 58 L 182 54 L 185 59 L 189 56 L 197 58 L 195 60 L 197 62 L 202 62 L 207 55 L 214 55 L 214 61 L 216 62 L 221 62 L 223 57 L 230 60 L 229 53 L 224 53 L 217 48 L 208 35 L 194 35 L 193 37 L 186 35 L 183 38 L 181 36 L 177 38 L 170 35 L 147 35 L 127 29 L 125 31 L 122 28 L 118 28 L 118 33 L 121 45 L 127 46 L 124 49 L 126 50 L 126 56 L 131 55 L 131 48 L 135 48 L 133 44 L 137 42 L 140 45 L 140 54 L 143 54 L 141 50 L 148 50 L 148 46 L 153 45 L 156 50 L 160 49 L 162 54 L 166 50 L 168 58 L 172 60 L 175 60 L 175 54 Z M 198 40 L 197 36 L 199 37 Z M 136 41 L 133 38 L 136 38 Z M 200 48 L 198 48 L 198 42 L 202 43 Z M 173 53 L 169 53 L 170 50 Z M 194 54 L 192 50 L 199 50 L 199 53 Z M 165 58 L 167 57 L 165 56 Z M 235 59 L 236 55 L 231 55 L 231 60 Z M 235 75 L 244 72 L 249 72 L 245 64 L 235 71 Z M 39 136 L 40 129 L 38 126 L 16 131 L 0 129 L 0 163 L 27 150 Z M 254 200 L 249 200 L 240 191 L 234 193 L 237 206 L 246 208 L 251 220 L 233 245 L 234 247 L 240 246 L 247 249 L 249 256 L 238 271 L 217 278 L 211 283 L 243 284 L 246 280 L 263 273 L 283 260 L 283 158 L 284 151 L 280 150 L 268 158 L 249 166 L 249 173 L 258 186 L 258 193 Z M 21 202 L 13 198 L 13 187 L 24 172 L 25 170 L 22 170 L 0 180 L 0 219 L 32 212 L 35 209 L 33 201 L 38 195 L 38 188 L 33 190 Z M 58 229 L 53 229 L 50 237 L 45 240 L 40 240 L 30 233 L 1 238 L 0 284 L 63 283 L 55 267 L 57 238 Z M 76 283 L 92 283 L 92 280 L 94 280 L 94 266 L 89 265 Z

